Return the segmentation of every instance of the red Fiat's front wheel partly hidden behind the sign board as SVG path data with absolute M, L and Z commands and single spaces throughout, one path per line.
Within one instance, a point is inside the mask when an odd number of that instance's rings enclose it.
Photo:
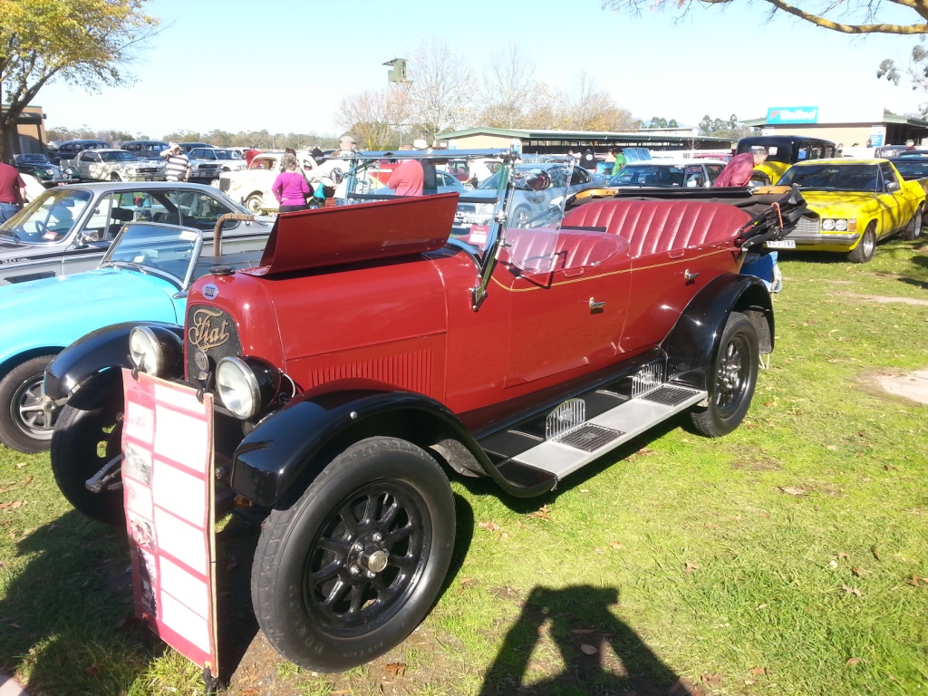
M 52 473 L 61 494 L 79 512 L 98 522 L 122 524 L 122 485 L 119 468 L 100 493 L 87 489 L 87 479 L 122 452 L 122 389 L 99 408 L 64 406 L 52 435 Z

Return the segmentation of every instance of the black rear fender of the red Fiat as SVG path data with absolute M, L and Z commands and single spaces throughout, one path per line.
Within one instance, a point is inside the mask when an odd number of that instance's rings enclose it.
M 706 370 L 732 312 L 743 312 L 754 323 L 761 353 L 773 351 L 773 303 L 764 281 L 754 276 L 719 276 L 690 300 L 662 343 L 673 380 L 707 389 Z

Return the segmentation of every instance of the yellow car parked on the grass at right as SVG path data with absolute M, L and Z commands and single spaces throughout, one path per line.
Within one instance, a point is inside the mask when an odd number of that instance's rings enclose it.
M 793 164 L 778 184 L 797 184 L 808 211 L 788 238 L 768 247 L 839 251 L 850 262 L 866 264 L 880 239 L 922 233 L 928 180 L 905 181 L 891 161 L 806 161 Z

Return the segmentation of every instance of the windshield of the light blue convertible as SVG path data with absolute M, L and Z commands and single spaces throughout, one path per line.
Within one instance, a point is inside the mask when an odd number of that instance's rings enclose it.
M 180 290 L 187 287 L 202 243 L 203 235 L 198 230 L 129 223 L 100 266 L 125 266 L 167 277 Z

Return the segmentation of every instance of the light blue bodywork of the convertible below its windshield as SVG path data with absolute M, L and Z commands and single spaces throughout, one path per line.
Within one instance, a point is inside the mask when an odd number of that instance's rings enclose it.
M 175 300 L 176 291 L 159 277 L 120 268 L 2 286 L 0 361 L 122 321 L 183 321 L 186 299 Z

